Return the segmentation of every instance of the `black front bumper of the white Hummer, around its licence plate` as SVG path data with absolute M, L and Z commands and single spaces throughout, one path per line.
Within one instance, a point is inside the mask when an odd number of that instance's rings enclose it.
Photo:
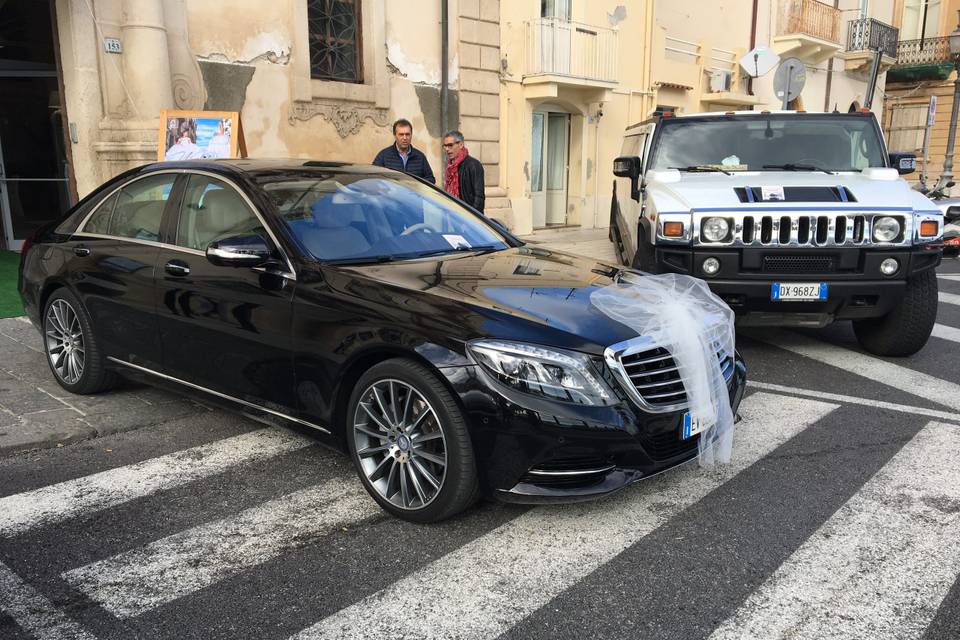
M 877 318 L 888 314 L 906 292 L 907 279 L 934 269 L 940 264 L 938 247 L 913 250 L 789 250 L 789 249 L 706 249 L 657 248 L 656 267 L 660 273 L 687 273 L 704 279 L 737 315 L 737 324 L 825 326 L 834 320 Z M 764 259 L 828 257 L 835 270 L 831 272 L 768 273 Z M 719 260 L 720 271 L 708 276 L 703 272 L 707 258 Z M 895 258 L 900 270 L 891 277 L 880 272 L 880 263 Z M 824 301 L 783 302 L 771 300 L 775 282 L 826 282 L 828 297 Z

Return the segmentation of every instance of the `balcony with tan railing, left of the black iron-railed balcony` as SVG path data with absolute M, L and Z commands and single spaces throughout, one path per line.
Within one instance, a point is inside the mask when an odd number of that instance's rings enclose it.
M 773 50 L 819 64 L 839 53 L 840 10 L 817 0 L 780 0 Z

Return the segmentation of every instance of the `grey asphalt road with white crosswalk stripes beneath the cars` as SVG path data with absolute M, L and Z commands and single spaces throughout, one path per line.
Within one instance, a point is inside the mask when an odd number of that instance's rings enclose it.
M 939 285 L 912 358 L 741 331 L 729 465 L 436 526 L 301 434 L 121 391 L 142 422 L 0 458 L 0 638 L 956 640 L 960 264 Z

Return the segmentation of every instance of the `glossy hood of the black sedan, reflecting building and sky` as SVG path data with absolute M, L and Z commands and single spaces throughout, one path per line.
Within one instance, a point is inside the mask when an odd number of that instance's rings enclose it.
M 487 254 L 328 267 L 335 290 L 391 308 L 398 322 L 429 324 L 458 340 L 500 338 L 593 354 L 636 331 L 604 315 L 590 294 L 613 266 L 534 246 Z

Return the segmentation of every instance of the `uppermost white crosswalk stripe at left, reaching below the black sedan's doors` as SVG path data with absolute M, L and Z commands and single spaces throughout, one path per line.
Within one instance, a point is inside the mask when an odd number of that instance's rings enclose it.
M 273 427 L 0 498 L 0 536 L 61 522 L 295 451 L 312 441 Z

